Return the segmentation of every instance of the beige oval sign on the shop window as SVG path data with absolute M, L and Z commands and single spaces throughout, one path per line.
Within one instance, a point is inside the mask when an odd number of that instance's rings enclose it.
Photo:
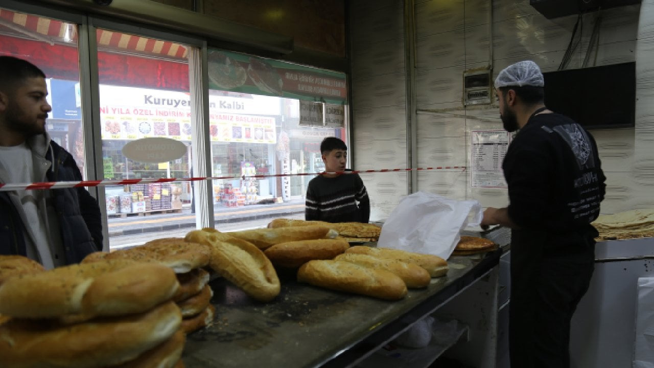
M 184 156 L 186 145 L 170 138 L 141 138 L 127 143 L 122 153 L 139 162 L 168 162 Z

